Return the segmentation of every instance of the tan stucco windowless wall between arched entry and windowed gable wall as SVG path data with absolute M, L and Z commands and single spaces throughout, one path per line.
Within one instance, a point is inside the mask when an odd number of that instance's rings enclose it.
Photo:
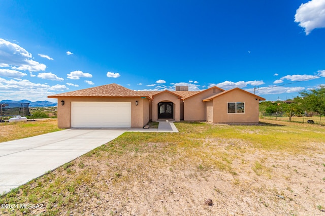
M 184 120 L 186 121 L 204 121 L 207 120 L 206 114 L 206 105 L 202 102 L 203 99 L 206 99 L 210 96 L 219 94 L 221 91 L 215 89 L 209 89 L 205 92 L 194 95 L 190 98 L 185 99 L 184 101 Z

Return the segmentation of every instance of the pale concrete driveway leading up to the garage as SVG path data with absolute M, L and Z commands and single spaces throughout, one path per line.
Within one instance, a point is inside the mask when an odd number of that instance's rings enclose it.
M 0 194 L 117 138 L 127 129 L 66 129 L 0 143 Z

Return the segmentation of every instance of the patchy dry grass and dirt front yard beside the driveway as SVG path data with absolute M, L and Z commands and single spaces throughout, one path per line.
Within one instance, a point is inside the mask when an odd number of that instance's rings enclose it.
M 0 202 L 46 206 L 28 215 L 322 215 L 323 127 L 273 123 L 124 133 Z

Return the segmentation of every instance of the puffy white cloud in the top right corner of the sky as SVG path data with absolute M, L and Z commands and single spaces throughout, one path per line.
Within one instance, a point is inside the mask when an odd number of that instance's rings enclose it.
M 308 35 L 315 28 L 325 27 L 325 1 L 311 0 L 301 6 L 296 11 L 295 22 L 305 29 Z

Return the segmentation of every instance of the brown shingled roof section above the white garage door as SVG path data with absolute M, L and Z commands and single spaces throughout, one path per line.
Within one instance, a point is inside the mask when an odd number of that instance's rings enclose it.
M 115 83 L 48 96 L 48 98 L 59 97 L 148 97 L 152 100 L 149 92 L 129 90 Z

